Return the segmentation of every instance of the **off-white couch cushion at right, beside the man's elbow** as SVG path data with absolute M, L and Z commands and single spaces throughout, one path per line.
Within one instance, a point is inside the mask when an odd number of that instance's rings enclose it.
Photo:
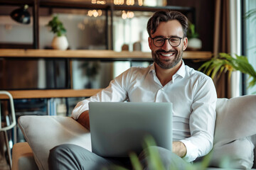
M 256 134 L 256 96 L 218 98 L 210 166 L 251 169 Z M 223 162 L 225 160 L 225 162 Z

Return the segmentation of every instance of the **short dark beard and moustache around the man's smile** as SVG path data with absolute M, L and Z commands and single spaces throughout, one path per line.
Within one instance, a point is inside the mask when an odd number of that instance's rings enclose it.
M 181 50 L 180 52 L 178 52 L 178 50 L 170 50 L 168 52 L 175 52 L 174 60 L 169 60 L 169 59 L 161 60 L 161 57 L 159 57 L 161 52 L 166 52 L 166 51 L 156 50 L 156 52 L 151 51 L 151 54 L 154 62 L 156 62 L 156 64 L 159 65 L 159 67 L 161 67 L 162 69 L 171 69 L 175 67 L 178 64 L 178 62 L 181 61 L 182 55 L 183 55 L 183 50 Z

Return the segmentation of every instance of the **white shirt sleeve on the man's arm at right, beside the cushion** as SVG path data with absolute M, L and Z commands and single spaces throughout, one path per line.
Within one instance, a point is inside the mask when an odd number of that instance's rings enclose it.
M 210 152 L 215 129 L 217 94 L 212 79 L 199 81 L 193 94 L 193 111 L 189 119 L 191 137 L 181 140 L 187 149 L 186 156 L 183 157 L 186 162 L 192 162 Z

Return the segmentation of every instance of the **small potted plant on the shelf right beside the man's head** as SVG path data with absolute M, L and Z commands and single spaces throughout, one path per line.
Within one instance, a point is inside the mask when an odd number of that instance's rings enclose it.
M 199 35 L 196 33 L 196 28 L 193 23 L 189 23 L 188 25 L 188 50 L 201 50 L 202 41 L 198 38 Z

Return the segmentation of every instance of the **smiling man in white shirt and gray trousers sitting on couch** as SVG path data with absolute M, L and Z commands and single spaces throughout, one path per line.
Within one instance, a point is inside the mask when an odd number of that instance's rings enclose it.
M 188 45 L 187 29 L 188 19 L 179 12 L 154 13 L 147 24 L 154 64 L 147 68 L 132 67 L 122 73 L 106 89 L 80 101 L 73 110 L 73 118 L 89 129 L 90 101 L 171 102 L 174 106 L 173 153 L 155 148 L 164 166 L 184 167 L 186 162 L 208 154 L 213 146 L 217 96 L 210 77 L 186 66 L 182 60 Z M 147 157 L 144 152 L 139 156 L 145 167 Z M 99 169 L 111 164 L 129 167 L 127 162 L 102 158 L 74 145 L 55 147 L 49 157 L 52 169 Z

